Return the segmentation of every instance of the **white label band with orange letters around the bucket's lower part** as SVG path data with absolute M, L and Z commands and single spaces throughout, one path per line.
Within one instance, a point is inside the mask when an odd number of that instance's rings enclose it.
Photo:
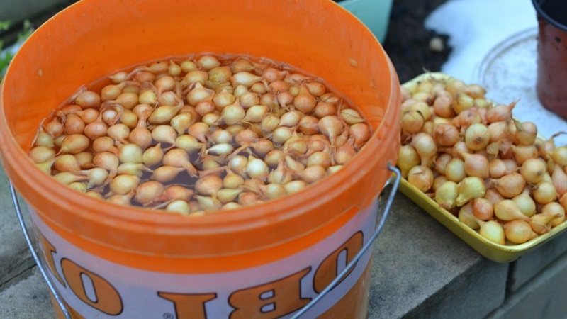
M 35 231 L 48 245 L 42 246 L 41 254 L 49 266 L 47 273 L 63 300 L 85 318 L 235 319 L 291 318 L 369 240 L 377 208 L 374 201 L 329 237 L 285 259 L 214 274 L 150 272 L 108 262 L 64 240 L 31 208 L 30 213 Z M 337 303 L 360 278 L 370 257 L 368 250 L 352 272 L 301 318 L 315 318 Z

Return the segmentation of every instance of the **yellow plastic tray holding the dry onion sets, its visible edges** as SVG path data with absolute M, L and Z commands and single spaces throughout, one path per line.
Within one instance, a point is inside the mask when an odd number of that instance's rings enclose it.
M 447 74 L 432 72 L 421 74 L 415 79 L 410 80 L 410 82 L 420 81 L 428 77 L 433 77 L 434 79 L 450 79 L 451 77 Z M 409 82 L 408 82 L 409 83 Z M 456 218 L 452 213 L 446 209 L 439 206 L 432 198 L 423 194 L 422 191 L 415 188 L 412 184 L 408 182 L 407 179 L 402 178 L 400 181 L 400 191 L 408 196 L 411 201 L 423 208 L 427 213 L 430 214 L 439 223 L 442 223 L 446 228 L 449 228 L 457 237 L 461 238 L 474 250 L 484 257 L 494 261 L 494 262 L 512 262 L 515 259 L 522 257 L 522 255 L 527 252 L 534 250 L 535 248 L 544 244 L 556 237 L 559 233 L 563 232 L 567 228 L 567 221 L 551 228 L 551 231 L 545 233 L 544 235 L 539 235 L 533 240 L 524 242 L 520 245 L 499 245 L 495 242 L 490 242 L 489 240 L 482 237 L 476 230 L 468 227 L 464 223 L 461 223 L 459 218 Z

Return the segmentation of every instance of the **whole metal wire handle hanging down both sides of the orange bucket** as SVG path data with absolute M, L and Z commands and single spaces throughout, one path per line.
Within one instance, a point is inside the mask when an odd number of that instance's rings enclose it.
M 376 230 L 369 238 L 369 240 L 366 242 L 366 244 L 362 246 L 361 250 L 354 256 L 351 262 L 347 264 L 347 267 L 345 267 L 342 270 L 342 272 L 337 277 L 335 277 L 335 279 L 333 279 L 333 281 L 331 281 L 330 284 L 325 289 L 323 289 L 315 298 L 313 298 L 312 301 L 310 301 L 307 305 L 305 305 L 303 308 L 298 310 L 298 312 L 295 315 L 293 315 L 291 319 L 298 319 L 310 308 L 315 306 L 315 303 L 318 303 L 318 301 L 320 301 L 321 298 L 323 298 L 329 291 L 334 289 L 335 286 L 337 286 L 337 284 L 342 280 L 342 278 L 351 271 L 351 269 L 354 267 L 354 265 L 357 264 L 357 262 L 362 257 L 362 255 L 366 252 L 366 250 L 368 250 L 372 245 L 374 245 L 374 240 L 376 240 L 376 237 L 378 237 L 378 234 L 380 233 L 380 231 L 384 226 L 384 223 L 386 222 L 386 217 L 388 217 L 388 213 L 390 212 L 390 208 L 392 206 L 395 193 L 398 190 L 398 186 L 400 184 L 400 177 L 401 177 L 400 170 L 396 167 L 393 167 L 391 164 L 388 164 L 388 169 L 394 172 L 395 176 L 393 176 L 391 179 L 388 179 L 388 182 L 385 185 L 388 186 L 389 184 L 391 184 L 392 179 L 394 180 L 392 189 L 390 191 L 390 195 L 388 196 L 388 201 L 386 201 L 386 206 L 384 206 L 384 212 L 382 214 L 382 217 L 378 221 L 378 225 L 376 225 Z M 33 257 L 33 260 L 35 260 L 35 264 L 38 265 L 38 269 L 40 269 L 41 275 L 43 276 L 43 279 L 45 279 L 45 282 L 47 282 L 47 286 L 49 287 L 51 293 L 53 294 L 55 301 L 57 301 L 57 304 L 60 306 L 63 315 L 65 316 L 66 319 L 72 319 L 71 313 L 69 312 L 67 305 L 65 305 L 63 299 L 60 296 L 59 291 L 57 291 L 57 289 L 55 288 L 55 285 L 51 281 L 50 277 L 47 276 L 45 266 L 43 265 L 43 262 L 39 258 L 38 253 L 35 251 L 35 247 L 33 246 L 33 242 L 31 240 L 30 234 L 28 233 L 28 229 L 26 228 L 26 223 L 23 221 L 20 202 L 18 201 L 18 196 L 16 196 L 16 190 L 13 188 L 13 184 L 11 183 L 11 181 L 9 181 L 9 184 L 10 184 L 10 193 L 12 196 L 13 205 L 16 208 L 16 215 L 18 216 L 20 227 L 22 228 L 23 237 L 26 238 L 26 242 L 28 244 L 28 247 L 30 248 L 30 252 Z

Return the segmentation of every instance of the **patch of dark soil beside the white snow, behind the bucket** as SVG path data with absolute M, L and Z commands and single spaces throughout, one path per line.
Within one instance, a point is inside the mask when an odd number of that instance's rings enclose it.
M 425 18 L 447 0 L 394 0 L 384 50 L 398 72 L 400 83 L 422 74 L 439 71 L 451 52 L 447 36 L 423 26 Z M 439 37 L 444 50 L 430 50 L 430 40 Z

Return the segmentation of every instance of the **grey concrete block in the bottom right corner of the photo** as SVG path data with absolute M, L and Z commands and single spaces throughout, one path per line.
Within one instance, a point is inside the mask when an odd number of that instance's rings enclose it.
M 507 296 L 487 319 L 567 318 L 567 254 L 561 255 L 537 276 Z

